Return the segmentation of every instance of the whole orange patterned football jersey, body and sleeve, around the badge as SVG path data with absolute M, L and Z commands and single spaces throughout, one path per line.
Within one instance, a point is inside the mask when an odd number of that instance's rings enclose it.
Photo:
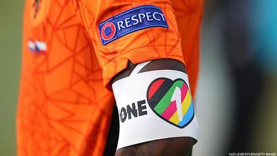
M 152 18 L 164 16 L 168 28 L 143 28 L 103 44 L 113 29 L 105 36 L 100 24 L 139 6 L 159 8 Z M 26 0 L 18 155 L 101 156 L 114 107 L 109 81 L 128 60 L 183 62 L 194 94 L 201 17 L 202 0 Z

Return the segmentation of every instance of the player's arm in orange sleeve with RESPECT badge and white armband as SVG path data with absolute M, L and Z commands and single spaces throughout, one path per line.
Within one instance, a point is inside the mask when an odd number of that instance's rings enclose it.
M 193 98 L 171 5 L 164 0 L 78 2 L 104 85 L 114 78 L 120 119 L 118 152 L 142 146 L 151 150 L 159 142 L 159 148 L 175 147 L 178 153 L 184 144 L 191 147 L 191 138 L 197 139 Z M 154 61 L 143 63 L 150 60 Z M 127 66 L 129 61 L 139 65 L 132 68 Z M 162 147 L 163 139 L 177 142 Z

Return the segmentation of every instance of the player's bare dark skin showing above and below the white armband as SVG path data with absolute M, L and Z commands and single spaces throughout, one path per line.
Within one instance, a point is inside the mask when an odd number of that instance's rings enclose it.
M 113 80 L 111 80 L 111 83 L 129 76 L 134 67 L 136 67 L 136 64 L 129 62 L 127 68 L 118 73 Z M 143 67 L 139 73 L 159 69 L 172 69 L 186 72 L 186 67 L 184 67 L 184 64 L 181 62 L 171 59 L 161 59 L 150 62 Z M 120 148 L 116 151 L 116 156 L 190 156 L 193 148 L 193 141 L 193 138 L 190 137 L 148 141 L 142 144 Z

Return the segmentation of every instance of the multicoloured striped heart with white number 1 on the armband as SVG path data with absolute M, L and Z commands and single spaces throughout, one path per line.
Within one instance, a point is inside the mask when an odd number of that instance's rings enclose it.
M 188 85 L 181 78 L 157 78 L 150 83 L 147 92 L 148 105 L 161 119 L 184 128 L 195 114 Z

